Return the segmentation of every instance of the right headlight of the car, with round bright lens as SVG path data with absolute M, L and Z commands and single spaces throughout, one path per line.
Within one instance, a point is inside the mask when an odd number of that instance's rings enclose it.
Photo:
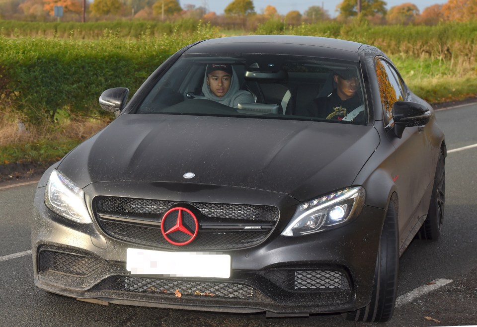
M 337 227 L 360 214 L 365 197 L 364 188 L 356 186 L 302 203 L 282 235 L 308 235 Z

